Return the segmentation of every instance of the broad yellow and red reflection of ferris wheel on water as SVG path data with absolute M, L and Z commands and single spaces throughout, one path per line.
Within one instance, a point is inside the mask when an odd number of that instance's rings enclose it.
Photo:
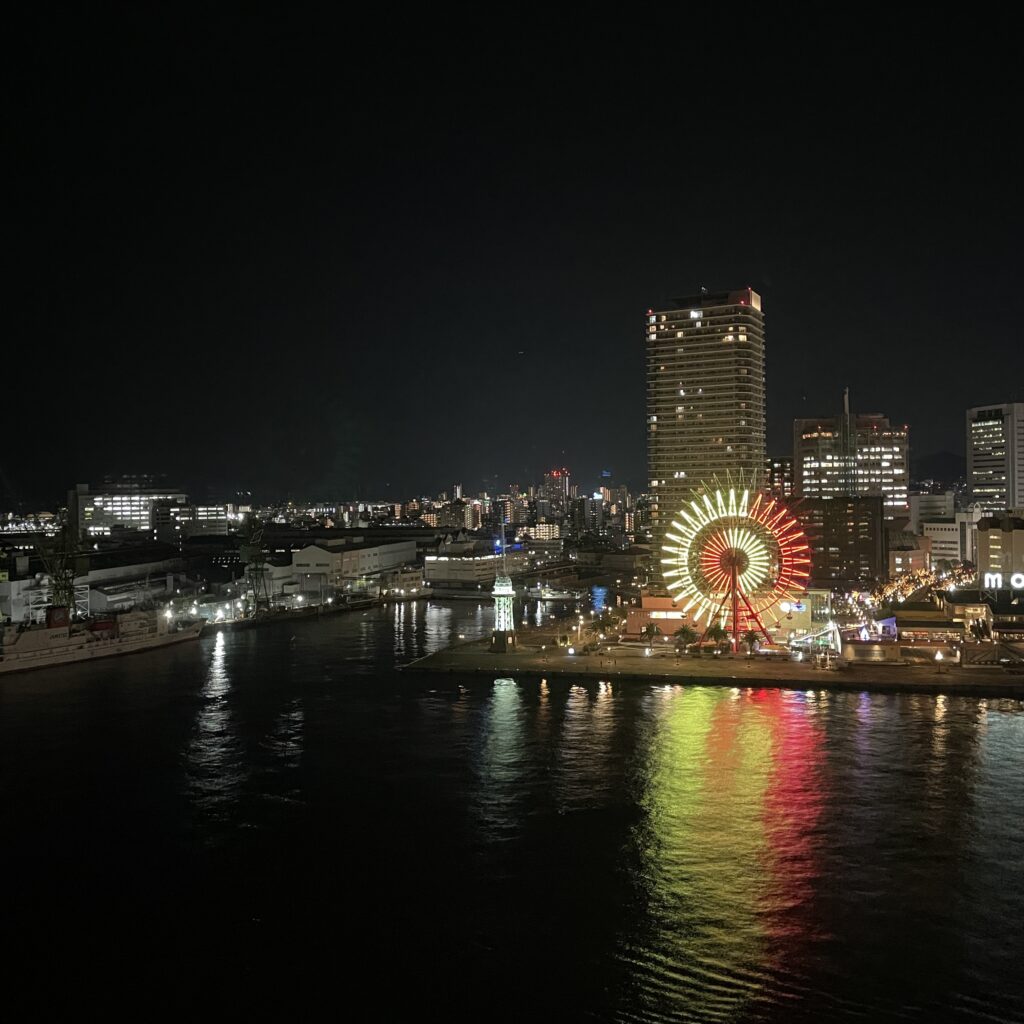
M 674 978 L 681 1013 L 733 1019 L 792 970 L 801 942 L 817 877 L 821 734 L 801 694 L 657 696 L 637 831 L 652 934 L 628 958 L 652 1001 Z

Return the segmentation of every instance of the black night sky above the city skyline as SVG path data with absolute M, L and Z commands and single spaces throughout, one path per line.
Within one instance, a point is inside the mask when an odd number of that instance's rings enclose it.
M 762 293 L 770 453 L 844 385 L 918 457 L 1022 399 L 998 26 L 106 10 L 7 34 L 0 508 L 640 486 L 699 285 Z

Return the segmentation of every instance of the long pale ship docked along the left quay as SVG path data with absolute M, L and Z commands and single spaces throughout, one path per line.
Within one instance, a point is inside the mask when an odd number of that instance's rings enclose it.
M 67 608 L 50 607 L 45 625 L 0 628 L 0 676 L 153 650 L 196 640 L 202 631 L 202 621 L 175 623 L 157 611 L 73 623 Z

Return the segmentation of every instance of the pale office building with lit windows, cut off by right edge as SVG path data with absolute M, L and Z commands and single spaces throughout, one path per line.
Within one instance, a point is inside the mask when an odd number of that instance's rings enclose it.
M 1024 402 L 967 411 L 967 485 L 986 512 L 1024 508 Z

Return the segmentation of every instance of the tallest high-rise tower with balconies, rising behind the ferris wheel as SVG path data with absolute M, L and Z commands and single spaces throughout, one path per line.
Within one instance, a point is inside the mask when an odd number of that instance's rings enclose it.
M 765 318 L 750 288 L 647 310 L 647 468 L 655 545 L 699 484 L 765 469 Z

